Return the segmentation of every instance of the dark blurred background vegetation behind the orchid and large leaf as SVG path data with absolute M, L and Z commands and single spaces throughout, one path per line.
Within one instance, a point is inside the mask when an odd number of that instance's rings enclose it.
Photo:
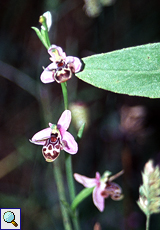
M 53 165 L 45 162 L 41 146 L 29 142 L 48 122 L 57 122 L 61 87 L 40 82 L 42 66 L 50 61 L 31 26 L 40 27 L 39 16 L 49 10 L 51 43 L 80 58 L 160 41 L 158 0 L 85 1 L 0 2 L 0 207 L 21 208 L 23 230 L 63 229 Z M 144 164 L 150 158 L 160 164 L 160 100 L 114 94 L 76 77 L 68 91 L 70 103 L 84 105 L 89 116 L 73 171 L 94 177 L 96 171 L 125 170 L 115 181 L 125 198 L 107 199 L 103 213 L 87 198 L 79 206 L 81 227 L 90 230 L 99 222 L 104 230 L 144 229 L 136 201 Z M 70 131 L 76 136 L 74 123 Z M 82 188 L 76 182 L 77 192 Z M 153 215 L 151 229 L 159 226 Z

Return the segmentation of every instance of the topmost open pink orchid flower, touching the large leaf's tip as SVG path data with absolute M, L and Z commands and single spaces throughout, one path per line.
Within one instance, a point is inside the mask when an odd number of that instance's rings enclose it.
M 68 81 L 73 73 L 81 70 L 82 63 L 79 58 L 66 56 L 62 48 L 56 45 L 51 45 L 48 49 L 51 55 L 52 63 L 48 65 L 42 72 L 40 79 L 43 83 L 58 82 L 62 83 Z

